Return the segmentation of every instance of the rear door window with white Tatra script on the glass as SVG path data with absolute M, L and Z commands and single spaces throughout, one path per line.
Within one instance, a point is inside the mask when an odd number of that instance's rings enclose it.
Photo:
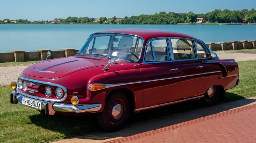
M 175 60 L 196 58 L 191 40 L 172 39 L 171 42 Z

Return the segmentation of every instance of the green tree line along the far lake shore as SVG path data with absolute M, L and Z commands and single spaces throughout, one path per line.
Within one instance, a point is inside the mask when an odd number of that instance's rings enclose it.
M 229 9 L 215 9 L 211 12 L 205 14 L 196 14 L 193 11 L 189 13 L 175 13 L 169 12 L 166 13 L 161 11 L 152 15 L 141 14 L 139 16 L 131 16 L 121 18 L 120 21 L 116 21 L 117 17 L 112 18 L 100 17 L 100 21 L 93 23 L 95 18 L 89 17 L 68 17 L 55 18 L 54 20 L 61 20 L 62 24 L 178 24 L 178 23 L 195 23 L 197 18 L 203 18 L 205 22 L 209 23 L 242 23 L 243 19 L 246 19 L 247 22 L 255 23 L 256 22 L 256 10 L 252 8 L 251 10 L 229 10 Z M 1 23 L 7 20 L 7 23 L 11 23 L 9 19 L 4 19 Z M 47 21 L 34 21 L 30 22 L 24 19 L 15 20 L 17 23 L 24 24 L 49 24 Z M 59 24 L 59 23 L 55 23 Z

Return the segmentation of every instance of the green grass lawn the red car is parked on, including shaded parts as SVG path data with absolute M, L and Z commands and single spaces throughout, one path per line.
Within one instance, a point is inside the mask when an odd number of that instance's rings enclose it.
M 256 60 L 239 62 L 239 71 L 240 85 L 227 90 L 226 99 L 218 104 L 256 96 Z M 95 115 L 43 115 L 19 103 L 11 104 L 11 91 L 10 86 L 0 86 L 0 142 L 52 142 L 100 131 Z M 128 124 L 202 107 L 190 102 L 165 107 L 164 110 L 147 111 L 132 115 Z

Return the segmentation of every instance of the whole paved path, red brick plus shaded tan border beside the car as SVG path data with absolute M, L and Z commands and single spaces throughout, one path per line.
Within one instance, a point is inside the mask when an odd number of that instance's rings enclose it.
M 56 143 L 256 142 L 256 97 L 200 108 Z

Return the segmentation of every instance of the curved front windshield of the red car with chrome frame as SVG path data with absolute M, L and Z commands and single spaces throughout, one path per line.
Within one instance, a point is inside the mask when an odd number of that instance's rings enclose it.
M 143 40 L 136 36 L 99 33 L 91 35 L 77 54 L 137 62 L 142 45 Z

